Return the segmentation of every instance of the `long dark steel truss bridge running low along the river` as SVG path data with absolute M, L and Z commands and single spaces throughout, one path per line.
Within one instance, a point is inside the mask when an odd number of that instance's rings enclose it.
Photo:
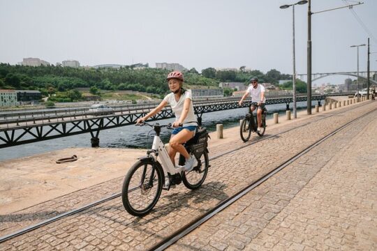
M 343 94 L 345 95 L 345 94 Z M 332 95 L 333 96 L 333 95 Z M 317 100 L 320 105 L 320 100 L 325 99 L 325 95 L 312 96 L 312 100 Z M 297 102 L 306 101 L 306 96 L 297 96 Z M 198 122 L 201 123 L 202 114 L 207 112 L 216 112 L 226 109 L 240 108 L 238 105 L 239 98 L 228 98 L 225 100 L 209 100 L 199 103 L 194 102 L 195 114 L 198 116 Z M 270 97 L 266 100 L 266 105 L 286 103 L 289 109 L 289 103 L 293 102 L 293 97 Z M 248 107 L 251 100 L 245 100 L 243 107 Z M 28 144 L 32 142 L 39 142 L 47 139 L 57 139 L 59 137 L 67 137 L 72 135 L 79 135 L 82 133 L 90 133 L 92 137 L 92 146 L 98 145 L 98 135 L 101 130 L 117 128 L 120 126 L 128 126 L 134 124 L 137 119 L 145 116 L 152 108 L 143 109 L 142 111 L 112 114 L 105 116 L 97 116 L 87 118 L 82 116 L 77 119 L 76 116 L 70 118 L 61 117 L 57 119 L 48 119 L 34 121 L 29 125 L 20 126 L 16 123 L 8 124 L 6 128 L 0 128 L 0 149 L 17 146 L 20 144 Z M 151 118 L 151 121 L 161 119 L 169 119 L 174 117 L 174 113 L 170 107 L 165 107 L 161 112 Z

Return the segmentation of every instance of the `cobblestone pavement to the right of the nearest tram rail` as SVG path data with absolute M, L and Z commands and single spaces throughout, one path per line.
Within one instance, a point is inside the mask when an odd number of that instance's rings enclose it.
M 168 250 L 376 250 L 377 111 Z

